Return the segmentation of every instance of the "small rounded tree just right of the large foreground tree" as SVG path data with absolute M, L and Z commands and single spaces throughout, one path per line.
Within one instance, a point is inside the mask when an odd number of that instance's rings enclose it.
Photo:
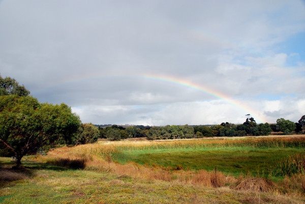
M 81 124 L 78 128 L 76 144 L 95 143 L 98 141 L 100 132 L 92 123 Z

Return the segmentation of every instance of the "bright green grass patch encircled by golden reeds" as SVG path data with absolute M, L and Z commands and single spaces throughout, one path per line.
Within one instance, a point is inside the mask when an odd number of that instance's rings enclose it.
M 124 151 L 116 158 L 120 163 L 158 164 L 174 169 L 214 170 L 238 176 L 240 173 L 268 174 L 272 165 L 289 155 L 304 152 L 304 148 L 201 148 Z M 274 169 L 273 169 L 274 170 Z

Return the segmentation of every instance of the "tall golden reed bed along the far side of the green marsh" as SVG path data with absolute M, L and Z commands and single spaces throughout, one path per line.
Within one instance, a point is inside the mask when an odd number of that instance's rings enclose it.
M 65 155 L 70 159 L 98 157 L 107 161 L 119 160 L 124 157 L 124 151 L 149 151 L 166 149 L 200 149 L 200 148 L 305 148 L 304 138 L 258 138 L 236 140 L 169 140 L 145 142 L 100 142 L 77 145 L 72 148 L 58 148 L 49 153 Z

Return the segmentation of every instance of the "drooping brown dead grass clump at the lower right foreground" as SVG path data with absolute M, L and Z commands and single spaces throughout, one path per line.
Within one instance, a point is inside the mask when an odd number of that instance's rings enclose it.
M 272 181 L 263 178 L 247 178 L 236 187 L 237 190 L 250 190 L 271 192 L 275 189 L 275 184 Z

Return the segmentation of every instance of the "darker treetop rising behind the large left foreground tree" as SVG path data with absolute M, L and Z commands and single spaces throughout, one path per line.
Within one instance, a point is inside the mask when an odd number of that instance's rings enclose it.
M 18 95 L 28 96 L 29 91 L 25 89 L 24 85 L 19 85 L 16 79 L 11 77 L 3 78 L 0 75 L 0 96 Z

